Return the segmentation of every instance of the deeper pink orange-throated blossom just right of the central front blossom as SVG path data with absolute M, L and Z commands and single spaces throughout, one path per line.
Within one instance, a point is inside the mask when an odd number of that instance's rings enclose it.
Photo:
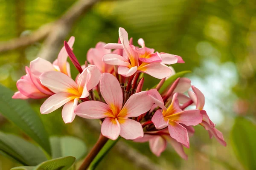
M 189 147 L 189 135 L 186 126 L 195 126 L 202 122 L 202 115 L 198 109 L 182 111 L 179 107 L 177 93 L 173 95 L 172 103 L 166 111 L 157 110 L 152 122 L 157 129 L 168 127 L 170 136 L 185 147 Z

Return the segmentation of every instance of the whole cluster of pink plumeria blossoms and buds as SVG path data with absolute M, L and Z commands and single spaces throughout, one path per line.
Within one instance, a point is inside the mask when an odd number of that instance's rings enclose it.
M 183 63 L 180 56 L 133 45 L 124 28 L 119 28 L 119 42 L 97 43 L 87 52 L 85 65 L 80 65 L 72 46 L 75 38 L 64 42 L 58 58 L 50 63 L 37 58 L 26 67 L 26 75 L 17 81 L 15 99 L 46 98 L 40 111 L 48 114 L 62 108 L 65 123 L 75 116 L 99 119 L 101 133 L 115 140 L 122 136 L 134 142 L 149 142 L 151 151 L 160 156 L 169 142 L 183 158 L 183 146 L 189 148 L 192 126 L 201 125 L 210 137 L 226 145 L 222 133 L 203 110 L 204 95 L 191 86 L 187 78 L 177 78 L 163 92 L 159 89 L 175 71 L 167 65 Z M 113 51 L 112 51 L 113 50 Z M 71 78 L 67 57 L 79 71 Z M 142 91 L 143 74 L 161 79 L 156 88 Z M 192 91 L 189 88 L 192 87 Z M 186 96 L 184 93 L 189 95 Z M 195 109 L 186 110 L 189 105 Z

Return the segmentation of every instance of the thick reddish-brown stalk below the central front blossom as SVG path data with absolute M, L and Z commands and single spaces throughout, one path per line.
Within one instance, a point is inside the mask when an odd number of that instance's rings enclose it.
M 108 142 L 108 138 L 103 136 L 102 134 L 99 135 L 99 139 L 96 142 L 96 144 L 93 146 L 92 150 L 90 150 L 90 153 L 86 156 L 83 163 L 79 167 L 79 170 L 87 170 L 90 163 L 93 161 L 93 159 L 97 156 L 99 151 L 102 149 L 102 147 Z

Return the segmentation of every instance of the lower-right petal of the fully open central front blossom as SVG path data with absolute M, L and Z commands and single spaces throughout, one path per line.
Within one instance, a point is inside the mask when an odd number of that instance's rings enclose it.
M 118 118 L 121 127 L 120 136 L 127 140 L 133 140 L 143 137 L 143 128 L 141 124 L 135 120 Z

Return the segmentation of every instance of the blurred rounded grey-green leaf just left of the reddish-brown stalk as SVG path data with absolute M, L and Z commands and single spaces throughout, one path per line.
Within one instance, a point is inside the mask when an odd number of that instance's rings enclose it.
M 79 160 L 85 156 L 87 151 L 85 143 L 73 136 L 50 137 L 52 147 L 52 158 L 62 156 L 73 156 Z

